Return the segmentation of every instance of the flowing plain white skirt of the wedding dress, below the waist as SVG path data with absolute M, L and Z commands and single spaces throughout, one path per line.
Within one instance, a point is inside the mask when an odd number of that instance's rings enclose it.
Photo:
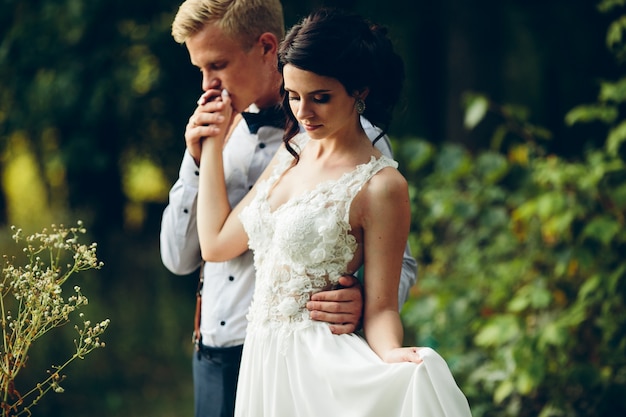
M 250 330 L 236 417 L 469 417 L 467 399 L 430 348 L 421 364 L 383 362 L 357 335 L 312 323 L 285 335 Z

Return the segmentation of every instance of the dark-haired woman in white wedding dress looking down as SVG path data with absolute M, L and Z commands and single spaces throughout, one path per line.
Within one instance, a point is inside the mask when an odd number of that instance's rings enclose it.
M 233 116 L 226 91 L 223 122 L 202 143 L 202 256 L 223 261 L 249 247 L 257 269 L 235 414 L 470 416 L 445 361 L 430 348 L 402 346 L 408 187 L 360 124 L 363 115 L 384 131 L 401 92 L 402 61 L 386 31 L 320 10 L 288 32 L 279 67 L 284 145 L 232 210 L 222 165 Z M 365 339 L 334 335 L 309 318 L 306 303 L 361 267 Z

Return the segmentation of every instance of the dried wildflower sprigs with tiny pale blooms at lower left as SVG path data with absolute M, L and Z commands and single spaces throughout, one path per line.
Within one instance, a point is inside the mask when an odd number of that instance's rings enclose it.
M 13 239 L 24 240 L 27 262 L 15 267 L 14 259 L 6 259 L 0 282 L 0 314 L 2 326 L 2 352 L 0 359 L 0 409 L 2 417 L 30 415 L 30 408 L 37 404 L 48 391 L 63 392 L 59 383 L 65 378 L 60 372 L 76 358 L 83 359 L 92 350 L 103 347 L 99 336 L 106 330 L 109 320 L 94 326 L 83 318 L 83 327 L 75 326 L 79 338 L 74 341 L 75 352 L 60 366 L 52 366 L 49 376 L 30 391 L 21 395 L 14 381 L 26 366 L 32 343 L 50 330 L 69 322 L 70 314 L 88 303 L 80 287 L 67 300 L 62 297 L 62 285 L 75 273 L 99 269 L 102 263 L 96 257 L 96 244 L 78 243 L 78 235 L 86 231 L 82 223 L 78 227 L 52 226 L 48 232 L 21 236 L 15 229 Z M 42 258 L 46 258 L 44 262 Z M 62 262 L 67 261 L 65 266 Z M 11 310 L 11 307 L 13 308 Z M 31 397 L 34 397 L 31 400 Z M 26 401 L 28 400 L 28 401 Z M 30 401 L 30 402 L 29 402 Z

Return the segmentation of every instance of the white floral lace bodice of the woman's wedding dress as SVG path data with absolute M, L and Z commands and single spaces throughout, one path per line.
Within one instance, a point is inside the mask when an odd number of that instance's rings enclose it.
M 294 138 L 300 149 L 308 140 L 306 134 Z M 372 157 L 339 179 L 322 182 L 272 211 L 269 192 L 293 161 L 285 149 L 278 152 L 274 172 L 258 185 L 257 195 L 240 215 L 256 268 L 249 331 L 261 325 L 291 332 L 310 325 L 306 302 L 311 294 L 337 284 L 357 248 L 349 233 L 352 200 L 378 171 L 397 167 L 390 158 Z

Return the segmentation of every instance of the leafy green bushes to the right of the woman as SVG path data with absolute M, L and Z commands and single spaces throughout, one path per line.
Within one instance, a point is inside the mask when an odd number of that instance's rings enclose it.
M 609 38 L 622 46 L 614 26 Z M 496 112 L 491 150 L 399 146 L 420 263 L 403 317 L 448 359 L 477 417 L 626 413 L 625 87 L 605 81 L 566 115 L 606 136 L 578 160 L 545 155 L 536 138 L 549 132 L 477 93 L 465 124 Z

